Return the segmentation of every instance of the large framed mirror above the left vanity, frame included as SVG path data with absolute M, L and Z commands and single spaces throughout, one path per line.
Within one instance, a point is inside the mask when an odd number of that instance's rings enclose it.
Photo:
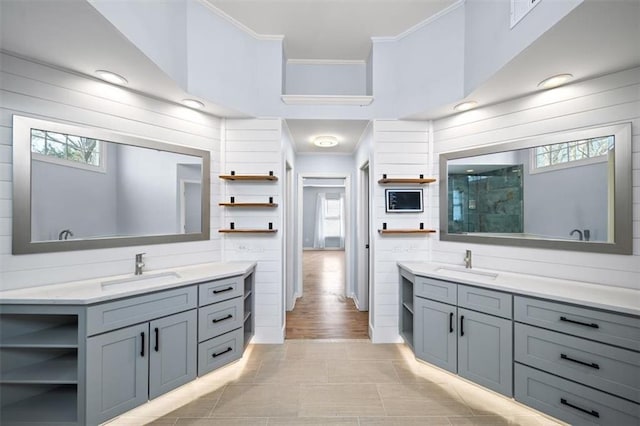
M 208 151 L 13 116 L 13 254 L 209 239 Z

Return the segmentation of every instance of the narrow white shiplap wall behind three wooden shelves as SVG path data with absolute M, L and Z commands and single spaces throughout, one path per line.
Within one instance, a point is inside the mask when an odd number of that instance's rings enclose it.
M 222 171 L 230 174 L 265 175 L 273 171 L 271 181 L 222 181 L 221 197 L 229 201 L 266 203 L 269 197 L 277 208 L 220 208 L 220 227 L 267 229 L 272 222 L 275 234 L 223 234 L 223 258 L 226 261 L 257 262 L 256 268 L 256 343 L 281 343 L 284 340 L 284 305 L 282 275 L 282 188 L 284 182 L 282 121 L 280 119 L 246 119 L 224 122 Z M 217 181 L 220 181 L 216 177 Z M 216 203 L 217 204 L 217 203 Z

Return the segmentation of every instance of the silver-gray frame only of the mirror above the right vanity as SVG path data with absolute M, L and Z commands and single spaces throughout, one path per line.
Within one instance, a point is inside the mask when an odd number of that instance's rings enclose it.
M 539 145 L 566 141 L 590 139 L 597 136 L 615 136 L 615 184 L 614 184 L 614 235 L 613 242 L 573 241 L 563 239 L 531 239 L 517 237 L 496 237 L 476 234 L 450 234 L 447 161 L 484 154 L 493 154 Z M 440 240 L 474 244 L 494 244 L 518 247 L 547 248 L 552 250 L 575 250 L 598 253 L 632 254 L 632 164 L 631 164 L 631 123 L 590 127 L 578 130 L 541 134 L 526 139 L 484 145 L 478 148 L 440 154 Z

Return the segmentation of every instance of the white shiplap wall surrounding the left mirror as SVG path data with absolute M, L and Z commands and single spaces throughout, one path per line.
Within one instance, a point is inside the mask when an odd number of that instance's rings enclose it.
M 146 252 L 146 270 L 219 261 L 217 189 L 212 191 L 208 241 L 13 256 L 12 116 L 93 126 L 211 151 L 220 170 L 220 120 L 177 104 L 144 97 L 7 54 L 0 57 L 0 289 L 131 273 L 134 254 Z M 217 188 L 217 187 L 214 187 Z

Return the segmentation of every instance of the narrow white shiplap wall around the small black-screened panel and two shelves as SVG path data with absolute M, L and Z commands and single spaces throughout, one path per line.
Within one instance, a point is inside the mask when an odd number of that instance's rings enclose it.
M 373 238 L 372 311 L 370 323 L 374 343 L 399 341 L 398 335 L 398 265 L 401 261 L 428 260 L 433 234 L 380 235 L 377 230 L 387 223 L 388 229 L 417 229 L 420 222 L 434 229 L 436 222 L 430 217 L 428 202 L 435 190 L 430 185 L 380 185 L 378 180 L 388 178 L 425 178 L 434 176 L 429 152 L 429 126 L 426 122 L 376 120 L 373 123 L 371 233 Z M 423 213 L 386 213 L 385 189 L 422 188 L 425 211 Z

